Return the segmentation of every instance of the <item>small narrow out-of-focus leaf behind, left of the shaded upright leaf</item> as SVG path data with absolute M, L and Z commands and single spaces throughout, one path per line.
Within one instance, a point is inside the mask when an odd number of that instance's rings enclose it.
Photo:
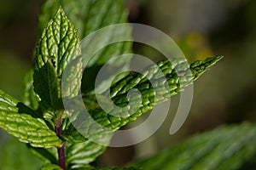
M 34 91 L 33 86 L 33 74 L 34 71 L 31 69 L 27 71 L 26 76 L 24 78 L 25 82 L 25 90 L 23 94 L 23 102 L 25 105 L 31 107 L 33 110 L 38 109 L 38 98 L 36 96 L 36 93 Z

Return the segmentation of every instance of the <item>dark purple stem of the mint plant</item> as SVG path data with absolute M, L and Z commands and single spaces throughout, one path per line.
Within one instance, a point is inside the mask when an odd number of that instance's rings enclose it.
M 58 122 L 55 125 L 55 132 L 58 137 L 61 137 L 61 124 L 62 120 L 59 118 Z M 58 157 L 59 157 L 59 166 L 66 170 L 66 162 L 65 162 L 65 144 L 63 144 L 61 147 L 57 148 L 58 150 Z

